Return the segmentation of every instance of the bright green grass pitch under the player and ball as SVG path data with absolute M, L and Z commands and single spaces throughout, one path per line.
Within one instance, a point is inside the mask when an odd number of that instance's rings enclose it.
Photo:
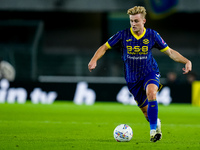
M 1 150 L 184 150 L 200 149 L 200 108 L 159 105 L 163 138 L 151 143 L 149 125 L 137 106 L 72 102 L 0 104 Z M 114 128 L 133 129 L 130 142 L 116 142 Z

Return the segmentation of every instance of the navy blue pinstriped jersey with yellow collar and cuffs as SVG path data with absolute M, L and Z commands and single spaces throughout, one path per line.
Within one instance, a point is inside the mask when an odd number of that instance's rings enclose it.
M 119 31 L 106 42 L 106 45 L 108 48 L 120 46 L 125 79 L 128 83 L 135 83 L 153 71 L 159 72 L 151 50 L 157 48 L 164 52 L 169 48 L 156 31 L 145 28 L 140 36 L 137 36 L 132 28 Z

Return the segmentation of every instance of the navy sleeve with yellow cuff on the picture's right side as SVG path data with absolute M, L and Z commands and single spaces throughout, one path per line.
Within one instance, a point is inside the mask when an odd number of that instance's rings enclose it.
M 165 52 L 166 50 L 169 49 L 169 46 L 167 43 L 162 39 L 160 34 L 155 31 L 155 48 L 158 48 L 161 52 Z

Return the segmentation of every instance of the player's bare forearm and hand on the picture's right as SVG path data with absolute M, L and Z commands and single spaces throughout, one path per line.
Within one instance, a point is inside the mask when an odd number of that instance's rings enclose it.
M 174 61 L 185 64 L 185 68 L 183 68 L 183 74 L 187 74 L 189 71 L 192 70 L 192 62 L 184 56 L 182 56 L 179 52 L 168 48 L 164 53 Z

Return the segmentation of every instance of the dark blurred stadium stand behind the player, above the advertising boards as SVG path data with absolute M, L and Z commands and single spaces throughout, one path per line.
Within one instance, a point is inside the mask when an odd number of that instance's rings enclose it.
M 129 28 L 127 9 L 147 8 L 146 28 L 193 62 L 200 75 L 200 0 L 0 0 L 0 57 L 16 69 L 17 81 L 41 76 L 123 77 L 117 49 L 108 51 L 90 73 L 87 65 L 100 45 Z M 179 82 L 184 65 L 153 50 L 163 82 L 173 72 Z

